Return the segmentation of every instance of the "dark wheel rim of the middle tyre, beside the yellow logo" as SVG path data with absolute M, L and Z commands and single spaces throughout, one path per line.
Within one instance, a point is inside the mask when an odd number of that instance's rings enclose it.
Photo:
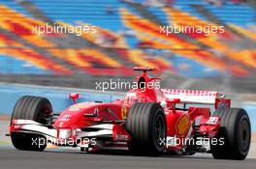
M 154 125 L 154 134 L 155 134 L 155 143 L 159 147 L 163 146 L 165 141 L 165 134 L 166 128 L 164 123 L 164 117 L 162 115 L 157 115 L 155 118 L 155 125 Z

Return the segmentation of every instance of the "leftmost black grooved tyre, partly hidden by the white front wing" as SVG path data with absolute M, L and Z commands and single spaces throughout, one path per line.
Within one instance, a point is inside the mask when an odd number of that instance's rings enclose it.
M 52 113 L 52 106 L 48 99 L 41 97 L 23 96 L 16 101 L 11 126 L 13 120 L 33 120 L 43 125 L 48 124 L 48 119 Z M 12 132 L 11 140 L 18 150 L 44 151 L 47 147 L 46 137 L 40 134 Z

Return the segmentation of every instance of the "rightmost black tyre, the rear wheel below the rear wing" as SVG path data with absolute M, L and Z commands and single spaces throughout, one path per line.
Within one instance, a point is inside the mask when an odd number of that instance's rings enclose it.
M 210 152 L 217 159 L 242 160 L 248 155 L 251 140 L 249 117 L 242 108 L 220 108 L 213 116 L 220 117 L 217 139 L 224 138 L 223 145 L 210 145 Z

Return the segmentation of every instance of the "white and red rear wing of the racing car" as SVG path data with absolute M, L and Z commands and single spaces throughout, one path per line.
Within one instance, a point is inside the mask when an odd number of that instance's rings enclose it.
M 230 107 L 231 100 L 214 91 L 196 91 L 183 89 L 162 89 L 166 99 L 180 99 L 181 103 L 213 104 L 215 108 Z

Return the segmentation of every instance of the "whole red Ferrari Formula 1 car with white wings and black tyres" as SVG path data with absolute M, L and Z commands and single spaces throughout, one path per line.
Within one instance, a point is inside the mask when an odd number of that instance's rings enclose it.
M 87 153 L 128 149 L 132 155 L 246 157 L 251 129 L 245 110 L 231 108 L 231 100 L 217 92 L 159 89 L 159 78 L 146 73 L 152 69 L 135 70 L 143 70 L 138 88 L 122 100 L 77 103 L 79 95 L 71 94 L 75 103 L 56 115 L 48 99 L 18 99 L 10 126 L 14 146 L 43 151 L 51 143 Z

